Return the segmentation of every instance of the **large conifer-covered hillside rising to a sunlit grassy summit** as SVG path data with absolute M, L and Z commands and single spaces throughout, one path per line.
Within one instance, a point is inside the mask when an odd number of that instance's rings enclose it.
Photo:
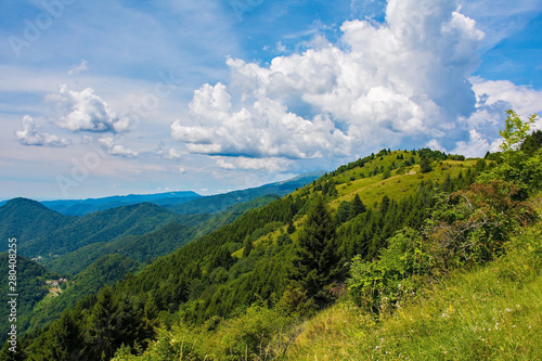
M 434 169 L 425 169 L 424 173 L 421 164 L 426 158 L 430 159 Z M 251 210 L 233 223 L 158 259 L 111 289 L 80 302 L 70 311 L 73 318 L 64 315 L 62 327 L 78 330 L 79 335 L 89 338 L 70 338 L 79 343 L 68 346 L 74 347 L 68 354 L 75 352 L 81 360 L 92 360 L 105 352 L 111 358 L 122 344 L 130 348 L 144 347 L 154 337 L 151 325 L 159 322 L 173 325 L 179 320 L 193 325 L 215 320 L 218 324 L 221 319 L 244 314 L 255 302 L 283 309 L 287 314 L 313 314 L 333 304 L 340 294 L 338 291 L 353 255 L 373 257 L 386 244 L 387 234 L 403 225 L 418 228 L 438 192 L 460 189 L 474 181 L 482 163 L 477 166 L 476 160 L 461 159 L 428 150 L 383 150 Z M 328 220 L 328 229 L 323 232 L 330 233 L 333 252 L 328 261 L 321 262 L 325 266 L 317 270 L 313 279 L 305 279 L 300 276 L 306 273 L 304 267 L 312 265 L 298 260 L 301 257 L 299 245 L 302 240 L 314 236 L 307 234 L 305 223 L 315 217 L 311 216 L 315 208 Z M 311 257 L 308 255 L 307 259 Z M 319 257 L 325 259 L 327 256 Z M 304 287 L 307 289 L 301 292 Z M 89 305 L 89 310 L 83 311 Z M 107 308 L 107 315 L 99 311 L 102 307 Z M 133 322 L 129 331 L 117 328 L 105 336 L 100 330 L 105 332 L 101 327 L 109 326 L 103 324 L 105 319 L 94 320 L 95 312 L 106 317 L 107 324 L 121 328 L 128 326 L 115 320 L 117 315 Z M 66 324 L 68 320 L 79 323 L 75 320 L 81 317 L 86 321 L 77 328 Z M 95 330 L 94 336 L 85 331 L 92 324 L 88 332 Z M 51 330 L 59 326 L 53 324 Z M 35 343 L 28 345 L 29 354 L 41 352 L 38 349 L 42 347 L 50 350 L 60 347 L 60 352 L 67 346 L 46 346 L 59 341 L 46 334 L 49 333 L 36 333 Z M 109 337 L 105 344 L 102 343 L 104 337 Z M 99 344 L 92 344 L 99 339 Z M 103 349 L 104 345 L 109 346 Z M 79 347 L 85 347 L 85 352 Z

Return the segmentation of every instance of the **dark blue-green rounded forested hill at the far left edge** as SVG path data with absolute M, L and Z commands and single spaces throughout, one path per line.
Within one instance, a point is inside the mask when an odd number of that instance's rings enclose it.
M 95 242 L 138 235 L 179 218 L 151 203 L 112 208 L 83 217 L 64 216 L 31 199 L 16 198 L 0 207 L 0 234 L 16 237 L 21 255 L 57 257 Z

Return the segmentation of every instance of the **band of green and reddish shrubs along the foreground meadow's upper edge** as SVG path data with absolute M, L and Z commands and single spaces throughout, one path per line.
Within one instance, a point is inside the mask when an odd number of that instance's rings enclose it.
M 517 227 L 535 219 L 528 204 L 514 199 L 518 191 L 494 181 L 441 197 L 422 232 L 402 230 L 373 261 L 354 258 L 350 296 L 366 311 L 388 312 L 433 275 L 493 260 Z

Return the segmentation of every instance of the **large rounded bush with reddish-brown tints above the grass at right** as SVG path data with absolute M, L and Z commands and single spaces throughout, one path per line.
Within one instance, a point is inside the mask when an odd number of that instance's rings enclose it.
M 517 201 L 519 191 L 513 183 L 493 181 L 446 198 L 426 231 L 439 265 L 480 263 L 499 256 L 511 232 L 535 217 L 529 204 Z

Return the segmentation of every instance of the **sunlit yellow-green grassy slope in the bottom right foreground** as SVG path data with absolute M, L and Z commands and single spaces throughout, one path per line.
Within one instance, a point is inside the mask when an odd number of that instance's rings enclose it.
M 344 300 L 305 324 L 288 359 L 541 360 L 542 224 L 496 261 L 457 271 L 375 321 Z

